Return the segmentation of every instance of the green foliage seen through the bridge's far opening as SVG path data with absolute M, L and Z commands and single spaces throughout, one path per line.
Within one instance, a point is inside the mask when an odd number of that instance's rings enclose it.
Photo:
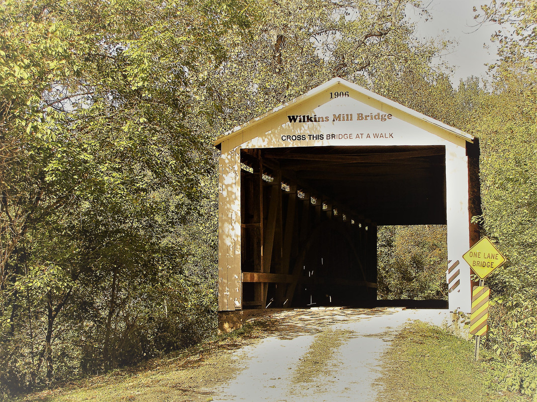
M 378 297 L 447 299 L 446 236 L 442 225 L 380 226 Z

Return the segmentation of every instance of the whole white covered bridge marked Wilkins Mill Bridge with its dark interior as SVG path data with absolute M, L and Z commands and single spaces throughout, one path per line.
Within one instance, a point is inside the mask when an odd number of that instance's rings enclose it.
M 475 142 L 342 78 L 221 135 L 219 311 L 372 302 L 377 226 L 441 224 L 469 313 Z

